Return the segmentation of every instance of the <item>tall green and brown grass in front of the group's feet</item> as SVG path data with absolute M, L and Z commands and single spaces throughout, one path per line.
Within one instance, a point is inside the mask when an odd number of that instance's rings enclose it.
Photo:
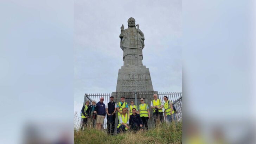
M 78 128 L 78 129 L 77 129 Z M 120 133 L 118 135 L 108 135 L 105 131 L 93 129 L 88 125 L 82 131 L 79 127 L 74 127 L 75 144 L 181 144 L 182 143 L 182 123 L 179 122 L 157 125 L 155 129 L 148 131 Z

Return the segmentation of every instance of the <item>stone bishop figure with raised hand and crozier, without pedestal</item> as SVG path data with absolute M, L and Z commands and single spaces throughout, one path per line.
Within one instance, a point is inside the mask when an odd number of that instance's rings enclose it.
M 121 26 L 121 34 L 119 35 L 120 47 L 123 50 L 123 65 L 143 65 L 142 49 L 144 48 L 144 34 L 135 26 L 135 19 L 128 19 L 128 28 L 124 30 Z

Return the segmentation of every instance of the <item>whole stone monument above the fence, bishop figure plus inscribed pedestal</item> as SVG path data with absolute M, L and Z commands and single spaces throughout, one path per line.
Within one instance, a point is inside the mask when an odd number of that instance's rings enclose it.
M 149 69 L 142 64 L 144 34 L 139 25 L 135 25 L 134 18 L 128 19 L 127 29 L 121 26 L 119 37 L 123 66 L 118 70 L 115 92 L 154 92 Z

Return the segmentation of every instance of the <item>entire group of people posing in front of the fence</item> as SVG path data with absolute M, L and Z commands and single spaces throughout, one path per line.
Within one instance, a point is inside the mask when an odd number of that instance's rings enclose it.
M 176 121 L 174 107 L 167 96 L 164 96 L 165 103 L 158 99 L 157 94 L 153 94 L 150 108 L 153 110 L 153 118 L 155 125 L 162 123 L 164 116 L 168 123 L 172 120 Z M 134 100 L 130 101 L 130 105 L 125 102 L 125 97 L 121 97 L 120 102 L 114 102 L 114 97 L 110 97 L 110 102 L 105 106 L 103 103 L 104 98 L 100 98 L 100 102 L 86 101 L 81 110 L 82 127 L 87 126 L 88 119 L 91 120 L 91 125 L 96 129 L 101 130 L 101 125 L 104 123 L 104 118 L 107 115 L 107 131 L 108 134 L 113 135 L 115 130 L 116 111 L 118 116 L 117 133 L 125 132 L 128 129 L 133 131 L 148 130 L 148 119 L 150 119 L 149 106 L 145 103 L 144 99 L 140 99 L 138 106 L 134 105 Z M 162 108 L 164 108 L 164 113 Z

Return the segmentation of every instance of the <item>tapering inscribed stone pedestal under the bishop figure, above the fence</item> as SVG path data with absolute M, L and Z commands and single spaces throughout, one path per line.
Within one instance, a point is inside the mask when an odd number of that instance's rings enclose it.
M 118 71 L 116 92 L 154 91 L 149 69 L 143 65 L 122 66 Z

